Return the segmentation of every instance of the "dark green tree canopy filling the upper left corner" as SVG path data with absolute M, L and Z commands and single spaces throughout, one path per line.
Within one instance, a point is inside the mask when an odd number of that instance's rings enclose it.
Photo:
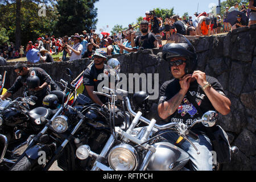
M 97 1 L 0 0 L 1 41 L 9 38 L 18 48 L 46 33 L 63 36 L 89 31 L 97 22 Z

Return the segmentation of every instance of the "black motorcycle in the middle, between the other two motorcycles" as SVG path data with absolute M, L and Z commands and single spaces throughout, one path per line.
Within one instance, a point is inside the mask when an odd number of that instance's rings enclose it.
M 93 161 L 80 161 L 75 158 L 76 149 L 82 144 L 89 144 L 94 150 L 101 151 L 110 136 L 108 122 L 109 110 L 92 104 L 89 97 L 76 93 L 76 87 L 61 80 L 65 86 L 67 99 L 52 119 L 46 121 L 44 129 L 28 139 L 27 150 L 11 168 L 11 171 L 42 170 L 47 171 L 57 160 L 63 170 L 81 170 L 90 168 Z M 73 102 L 68 105 L 69 98 Z M 127 116 L 128 117 L 128 116 Z M 129 126 L 122 123 L 123 129 Z M 40 155 L 42 154 L 42 156 Z

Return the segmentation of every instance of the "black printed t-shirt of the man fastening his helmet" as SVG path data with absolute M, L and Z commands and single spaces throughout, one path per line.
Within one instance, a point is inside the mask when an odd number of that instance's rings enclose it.
M 212 85 L 213 89 L 225 96 L 224 90 L 216 78 L 207 76 L 207 81 Z M 164 82 L 160 88 L 159 104 L 170 100 L 179 92 L 179 90 L 180 84 L 178 79 Z M 199 107 L 195 107 L 192 103 L 196 103 Z M 201 111 L 197 111 L 197 108 L 199 108 Z M 181 105 L 177 108 L 174 114 L 168 117 L 168 121 L 183 122 L 185 125 L 190 126 L 193 122 L 201 119 L 202 114 L 209 110 L 215 109 L 201 86 L 197 84 L 197 81 L 195 80 L 191 82 L 188 92 L 181 102 Z M 201 123 L 197 123 L 195 126 L 193 126 L 192 131 L 197 134 L 205 134 L 205 127 Z

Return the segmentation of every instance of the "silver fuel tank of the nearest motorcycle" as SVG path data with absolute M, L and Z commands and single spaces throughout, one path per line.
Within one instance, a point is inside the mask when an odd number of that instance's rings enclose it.
M 189 160 L 187 152 L 174 144 L 159 142 L 153 146 L 156 151 L 148 163 L 148 171 L 177 171 L 183 168 Z

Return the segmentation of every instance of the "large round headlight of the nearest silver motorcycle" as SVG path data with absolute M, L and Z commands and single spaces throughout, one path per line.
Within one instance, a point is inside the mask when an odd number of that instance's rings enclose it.
M 109 166 L 115 171 L 133 171 L 138 166 L 137 151 L 129 144 L 115 146 L 108 160 Z

